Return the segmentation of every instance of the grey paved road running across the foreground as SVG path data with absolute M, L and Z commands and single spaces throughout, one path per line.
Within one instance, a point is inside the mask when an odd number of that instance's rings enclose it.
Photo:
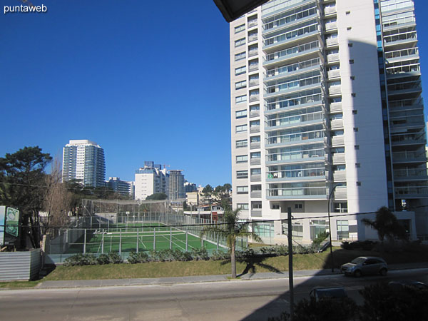
M 390 271 L 387 277 L 297 277 L 295 300 L 315 286 L 358 290 L 379 280 L 428 282 L 428 269 Z M 288 280 L 237 280 L 174 285 L 0 291 L 1 320 L 267 320 L 288 308 Z

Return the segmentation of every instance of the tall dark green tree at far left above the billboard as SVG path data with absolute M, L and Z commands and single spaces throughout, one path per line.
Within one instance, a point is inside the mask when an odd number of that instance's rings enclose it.
M 21 213 L 21 247 L 29 235 L 34 248 L 39 247 L 39 212 L 44 203 L 45 168 L 49 153 L 39 146 L 24 147 L 0 158 L 0 202 L 18 208 Z

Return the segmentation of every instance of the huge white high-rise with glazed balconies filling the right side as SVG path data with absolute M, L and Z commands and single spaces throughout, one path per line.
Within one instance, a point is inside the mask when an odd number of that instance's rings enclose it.
M 412 0 L 272 0 L 230 24 L 233 207 L 261 236 L 377 234 L 381 206 L 428 235 Z M 349 213 L 349 214 L 347 214 Z M 341 215 L 341 216 L 335 216 Z

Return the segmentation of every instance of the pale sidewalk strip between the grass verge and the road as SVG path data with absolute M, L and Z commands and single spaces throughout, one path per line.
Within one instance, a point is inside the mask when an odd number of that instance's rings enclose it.
M 402 263 L 391 264 L 389 270 L 412 270 L 419 268 L 428 268 L 427 263 Z M 294 277 L 337 275 L 340 270 L 296 270 Z M 198 282 L 219 282 L 230 281 L 230 275 L 200 275 L 187 277 L 153 277 L 142 279 L 115 279 L 115 280 L 67 280 L 67 281 L 45 281 L 37 285 L 36 289 L 58 289 L 67 287 L 111 287 L 124 285 L 172 285 L 180 283 L 198 283 Z M 238 280 L 263 280 L 287 278 L 288 272 L 260 272 L 255 274 L 245 274 Z

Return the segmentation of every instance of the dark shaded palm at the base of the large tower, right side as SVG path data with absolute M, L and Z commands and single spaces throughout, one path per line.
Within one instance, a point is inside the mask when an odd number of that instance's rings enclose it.
M 395 236 L 400 240 L 407 239 L 404 226 L 399 224 L 395 215 L 386 206 L 382 206 L 382 208 L 377 210 L 376 218 L 374 220 L 363 218 L 361 221 L 365 225 L 377 230 L 377 235 L 379 235 L 379 240 L 382 243 L 384 238 L 394 240 Z

